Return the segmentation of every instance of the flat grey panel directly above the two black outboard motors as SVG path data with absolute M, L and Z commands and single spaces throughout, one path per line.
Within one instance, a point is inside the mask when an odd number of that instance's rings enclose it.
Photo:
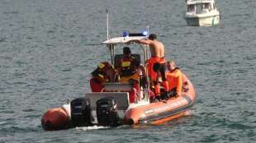
M 85 95 L 85 98 L 90 99 L 92 110 L 96 110 L 97 100 L 104 97 L 113 97 L 116 99 L 117 108 L 119 110 L 126 110 L 129 106 L 129 93 L 128 92 L 91 92 Z

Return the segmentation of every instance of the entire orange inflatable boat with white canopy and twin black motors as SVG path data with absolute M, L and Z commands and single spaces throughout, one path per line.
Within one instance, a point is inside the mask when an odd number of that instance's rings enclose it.
M 130 44 L 130 40 L 145 39 L 145 35 L 116 37 L 104 41 L 111 53 L 111 65 L 116 65 L 116 59 L 120 57 L 115 52 L 119 44 Z M 143 59 L 140 54 L 135 57 L 142 67 L 146 67 L 149 59 L 149 48 L 139 44 L 142 48 Z M 139 48 L 139 49 L 140 49 Z M 138 48 L 137 48 L 138 49 Z M 145 71 L 147 73 L 147 71 Z M 145 74 L 145 79 L 149 77 Z M 140 79 L 142 80 L 142 79 Z M 101 92 L 90 92 L 84 97 L 73 99 L 62 107 L 50 108 L 41 118 L 42 127 L 45 130 L 60 130 L 69 127 L 88 127 L 93 125 L 116 127 L 120 125 L 160 124 L 173 118 L 182 117 L 187 109 L 196 101 L 196 93 L 192 82 L 183 74 L 182 95 L 170 97 L 160 101 L 150 100 L 149 81 L 139 83 L 140 90 L 135 102 L 130 102 L 130 90 L 128 83 L 118 81 L 106 83 Z

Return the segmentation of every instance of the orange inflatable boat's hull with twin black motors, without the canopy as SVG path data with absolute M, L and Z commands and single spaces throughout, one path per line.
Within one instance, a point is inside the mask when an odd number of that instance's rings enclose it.
M 108 85 L 111 90 L 112 85 Z M 127 86 L 116 83 L 115 86 Z M 127 87 L 125 87 L 127 88 Z M 61 130 L 69 127 L 92 125 L 116 127 L 122 124 L 154 124 L 183 117 L 196 101 L 194 87 L 183 75 L 181 96 L 150 103 L 140 100 L 129 104 L 127 92 L 88 93 L 84 98 L 73 99 L 60 108 L 51 108 L 41 118 L 45 130 Z

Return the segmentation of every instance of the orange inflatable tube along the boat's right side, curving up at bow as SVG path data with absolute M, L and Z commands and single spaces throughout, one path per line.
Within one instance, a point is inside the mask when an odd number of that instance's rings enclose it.
M 168 122 L 173 118 L 184 116 L 187 109 L 191 108 L 196 101 L 196 93 L 192 83 L 183 76 L 183 81 L 187 83 L 183 87 L 183 94 L 168 100 L 151 103 L 136 108 L 128 108 L 125 114 L 125 123 L 135 124 L 160 124 Z

